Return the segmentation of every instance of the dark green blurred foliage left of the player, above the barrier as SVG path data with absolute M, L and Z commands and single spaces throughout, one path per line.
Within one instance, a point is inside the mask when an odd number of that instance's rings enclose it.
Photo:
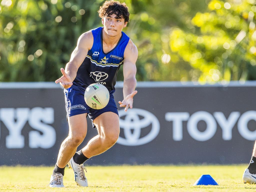
M 99 3 L 2 0 L 0 80 L 53 81 L 59 77 L 78 37 L 99 24 Z

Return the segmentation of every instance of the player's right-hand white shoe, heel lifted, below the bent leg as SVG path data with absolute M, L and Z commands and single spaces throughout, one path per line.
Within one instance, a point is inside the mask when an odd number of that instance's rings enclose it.
M 75 176 L 75 181 L 77 183 L 77 185 L 82 186 L 82 187 L 88 187 L 88 183 L 87 183 L 87 178 L 84 175 L 84 171 L 87 172 L 86 168 L 83 166 L 83 164 L 79 165 L 77 163 L 74 162 L 73 157 L 70 159 L 70 161 L 68 162 L 68 168 L 73 169 L 74 171 L 74 176 Z

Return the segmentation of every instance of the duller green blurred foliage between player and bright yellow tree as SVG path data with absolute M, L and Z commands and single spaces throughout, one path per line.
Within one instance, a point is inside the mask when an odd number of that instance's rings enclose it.
M 125 32 L 139 51 L 137 80 L 179 81 L 182 77 L 190 80 L 192 67 L 171 53 L 169 33 L 174 26 L 189 30 L 192 17 L 206 9 L 205 1 L 141 0 L 127 5 L 132 7 L 132 15 Z

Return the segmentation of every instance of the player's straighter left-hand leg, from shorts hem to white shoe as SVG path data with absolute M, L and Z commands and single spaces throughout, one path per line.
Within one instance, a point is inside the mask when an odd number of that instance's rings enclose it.
M 69 134 L 60 146 L 57 163 L 49 184 L 50 187 L 63 187 L 61 183 L 63 183 L 64 169 L 87 133 L 86 115 L 84 113 L 68 117 Z

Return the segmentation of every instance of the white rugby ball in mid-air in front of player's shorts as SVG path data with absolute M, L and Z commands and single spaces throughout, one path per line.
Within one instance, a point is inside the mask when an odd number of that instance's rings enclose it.
M 109 103 L 109 91 L 102 84 L 90 84 L 84 92 L 84 100 L 92 109 L 103 109 Z

